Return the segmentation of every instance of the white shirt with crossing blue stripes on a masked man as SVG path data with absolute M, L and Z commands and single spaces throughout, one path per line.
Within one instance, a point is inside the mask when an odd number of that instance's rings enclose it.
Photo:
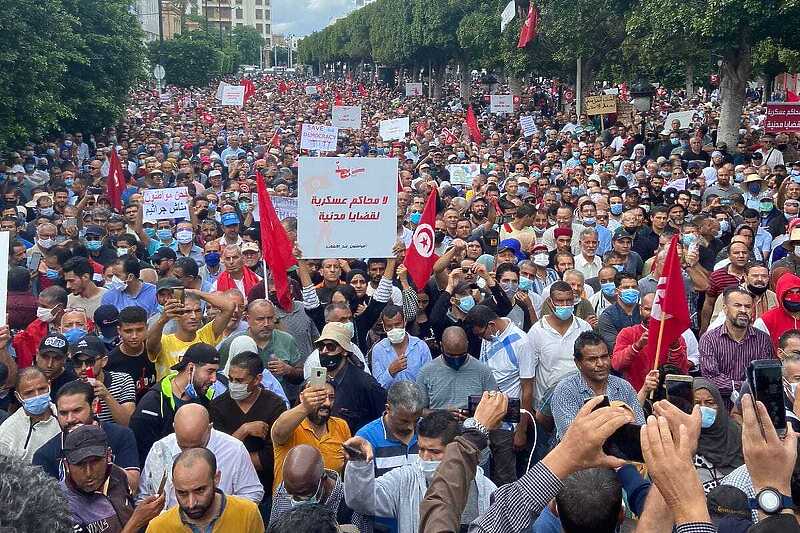
M 493 341 L 481 342 L 481 363 L 492 369 L 500 391 L 511 398 L 521 397 L 520 379 L 534 373 L 533 350 L 528 336 L 508 319 L 500 319 L 506 329 Z

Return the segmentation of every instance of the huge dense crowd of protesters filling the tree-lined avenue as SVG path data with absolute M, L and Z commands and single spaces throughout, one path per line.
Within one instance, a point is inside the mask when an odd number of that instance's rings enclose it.
M 141 90 L 115 127 L 0 162 L 0 529 L 800 529 L 800 138 L 764 132 L 757 99 L 727 146 L 705 93 L 589 117 L 532 83 L 497 115 L 477 83 L 462 105 L 455 84 L 432 101 L 253 81 L 243 107 L 217 87 Z M 364 118 L 327 155 L 397 160 L 394 255 L 304 258 L 284 216 L 281 305 L 256 175 L 296 196 L 300 156 L 320 155 L 302 125 L 330 124 L 334 103 Z M 380 138 L 402 116 L 405 138 Z M 171 187 L 188 218 L 146 217 L 143 191 Z M 438 259 L 419 285 L 407 251 L 433 191 Z M 653 368 L 673 242 L 690 326 Z M 782 437 L 746 382 L 763 359 L 781 363 Z M 694 407 L 670 403 L 667 375 Z M 604 448 L 623 426 L 638 462 Z

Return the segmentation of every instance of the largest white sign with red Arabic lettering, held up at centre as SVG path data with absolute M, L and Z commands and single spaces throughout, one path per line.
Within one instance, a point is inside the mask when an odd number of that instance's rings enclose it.
M 297 242 L 303 257 L 392 257 L 397 159 L 301 157 Z

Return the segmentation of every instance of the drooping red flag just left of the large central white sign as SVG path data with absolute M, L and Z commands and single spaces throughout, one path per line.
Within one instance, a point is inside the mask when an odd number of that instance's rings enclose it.
M 272 200 L 261 172 L 256 174 L 256 187 L 258 188 L 258 214 L 261 218 L 259 224 L 261 226 L 262 255 L 272 273 L 272 282 L 275 284 L 278 303 L 286 311 L 291 311 L 292 292 L 289 289 L 289 276 L 286 275 L 286 270 L 292 265 L 296 265 L 297 260 L 292 255 L 292 243 L 286 235 L 286 230 L 278 220 L 275 208 L 272 207 Z

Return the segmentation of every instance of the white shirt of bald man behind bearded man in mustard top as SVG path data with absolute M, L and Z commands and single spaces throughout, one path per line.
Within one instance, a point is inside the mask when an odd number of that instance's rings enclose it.
M 217 458 L 217 471 L 220 473 L 218 488 L 227 495 L 241 496 L 255 503 L 260 503 L 264 497 L 264 487 L 258 480 L 258 474 L 250 460 L 250 454 L 244 444 L 230 435 L 216 429 L 211 430 L 206 449 Z M 144 470 L 139 479 L 139 496 L 141 501 L 146 496 L 153 496 L 158 492 L 161 478 L 166 474 L 167 482 L 164 493 L 167 501 L 164 510 L 178 504 L 175 499 L 175 488 L 172 486 L 172 461 L 181 453 L 175 434 L 167 435 L 156 441 L 147 454 Z M 271 487 L 270 487 L 271 490 Z

